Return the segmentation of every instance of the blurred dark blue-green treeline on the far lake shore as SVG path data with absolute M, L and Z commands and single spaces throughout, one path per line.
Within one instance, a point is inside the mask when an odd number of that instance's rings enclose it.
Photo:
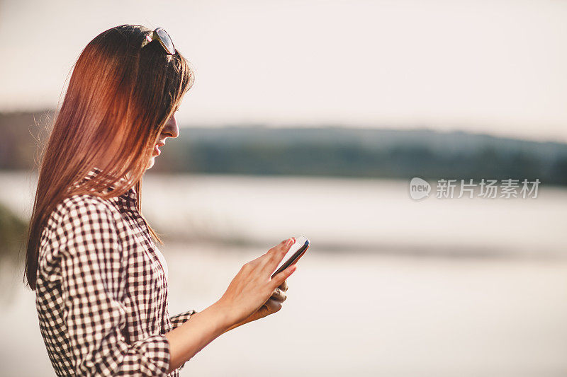
M 45 120 L 45 113 L 36 114 Z M 33 162 L 33 115 L 0 115 L 0 168 Z M 30 145 L 32 147 L 30 147 Z M 6 153 L 6 149 L 17 153 Z M 464 132 L 349 127 L 182 127 L 153 172 L 524 179 L 567 185 L 567 144 Z

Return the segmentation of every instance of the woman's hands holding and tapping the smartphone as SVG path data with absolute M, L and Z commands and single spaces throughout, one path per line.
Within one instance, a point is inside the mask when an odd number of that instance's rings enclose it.
M 242 266 L 232 279 L 225 294 L 217 301 L 218 306 L 227 313 L 230 324 L 228 330 L 281 309 L 281 303 L 286 299 L 286 279 L 297 267 L 291 265 L 274 279 L 271 279 L 271 274 L 293 242 L 294 238 L 283 240 L 264 255 Z

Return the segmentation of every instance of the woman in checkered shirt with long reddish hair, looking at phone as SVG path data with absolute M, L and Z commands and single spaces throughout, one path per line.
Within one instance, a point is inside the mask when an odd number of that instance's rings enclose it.
M 270 276 L 293 238 L 245 264 L 213 305 L 169 316 L 167 264 L 140 213 L 140 184 L 179 135 L 174 112 L 192 84 L 161 28 L 111 28 L 77 59 L 41 161 L 26 255 L 58 376 L 178 376 L 223 332 L 286 299 L 296 267 Z

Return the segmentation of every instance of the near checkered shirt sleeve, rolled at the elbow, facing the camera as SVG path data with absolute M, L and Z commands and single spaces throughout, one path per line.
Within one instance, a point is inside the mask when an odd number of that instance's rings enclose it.
M 125 340 L 126 259 L 113 211 L 103 203 L 73 206 L 63 216 L 63 318 L 77 376 L 166 376 L 169 342 L 152 335 Z

